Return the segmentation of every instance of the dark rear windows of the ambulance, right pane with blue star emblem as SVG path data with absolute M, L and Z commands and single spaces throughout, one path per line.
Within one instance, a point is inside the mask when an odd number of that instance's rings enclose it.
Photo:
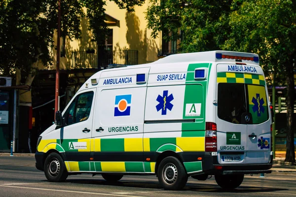
M 265 86 L 243 83 L 218 84 L 218 117 L 233 124 L 243 124 L 242 114 L 249 113 L 252 123 L 268 120 Z

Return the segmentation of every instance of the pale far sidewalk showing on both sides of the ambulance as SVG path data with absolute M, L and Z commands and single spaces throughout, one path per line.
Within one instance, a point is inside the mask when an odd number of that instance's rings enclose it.
M 273 159 L 272 172 L 293 172 L 296 173 L 296 163 L 285 162 L 286 153 L 276 152 L 276 157 Z M 1 156 L 10 156 L 10 153 L 0 153 Z M 30 153 L 13 153 L 13 157 L 35 157 L 35 154 Z

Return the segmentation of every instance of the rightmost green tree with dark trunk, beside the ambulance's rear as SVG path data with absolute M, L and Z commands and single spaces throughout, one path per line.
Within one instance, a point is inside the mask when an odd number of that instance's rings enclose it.
M 239 7 L 235 7 L 237 4 Z M 294 146 L 294 69 L 296 63 L 296 1 L 234 1 L 228 17 L 231 33 L 221 44 L 225 50 L 258 53 L 265 71 L 285 76 L 287 85 L 286 162 L 295 162 Z M 222 19 L 223 20 L 223 19 Z

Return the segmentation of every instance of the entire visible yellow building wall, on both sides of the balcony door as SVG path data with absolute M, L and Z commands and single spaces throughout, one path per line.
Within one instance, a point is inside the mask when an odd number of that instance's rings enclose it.
M 117 19 L 116 25 L 109 25 L 113 29 L 113 50 L 138 50 L 138 64 L 146 64 L 158 60 L 157 53 L 160 48 L 161 39 L 153 39 L 151 30 L 147 29 L 145 12 L 148 8 L 149 0 L 142 6 L 135 6 L 134 12 L 127 12 L 125 9 L 119 9 L 113 1 L 107 1 L 105 5 L 106 14 Z M 84 8 L 86 12 L 86 8 Z M 70 40 L 66 38 L 65 53 L 66 57 L 60 58 L 60 69 L 72 69 L 73 52 L 86 51 L 94 49 L 97 51 L 96 42 L 91 41 L 92 32 L 88 30 L 88 19 L 81 21 L 81 38 Z M 57 45 L 57 33 L 54 34 L 54 44 Z M 61 39 L 62 45 L 62 39 Z M 52 66 L 40 65 L 39 69 L 54 70 L 56 68 L 56 47 L 50 48 L 50 55 L 53 60 Z M 86 67 L 91 67 L 87 64 Z

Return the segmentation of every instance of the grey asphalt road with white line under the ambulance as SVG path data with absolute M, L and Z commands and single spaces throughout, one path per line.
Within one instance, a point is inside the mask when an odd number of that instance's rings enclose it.
M 198 181 L 192 178 L 182 191 L 163 190 L 156 176 L 124 176 L 115 184 L 101 175 L 69 176 L 64 183 L 47 182 L 44 173 L 35 168 L 33 157 L 0 157 L 0 197 L 296 197 L 296 173 L 272 173 L 260 178 L 246 175 L 240 187 L 222 190 L 214 178 Z

